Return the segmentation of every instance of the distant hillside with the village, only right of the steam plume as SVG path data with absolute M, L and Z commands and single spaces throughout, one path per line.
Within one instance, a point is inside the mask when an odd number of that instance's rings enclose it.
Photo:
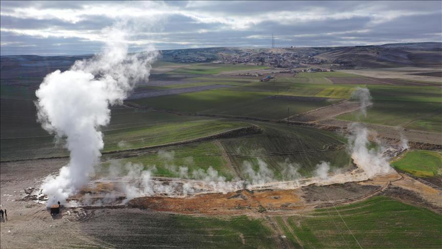
M 163 60 L 178 63 L 221 61 L 280 67 L 335 64 L 342 68 L 442 65 L 442 43 L 313 48 L 199 48 L 164 50 Z M 281 57 L 282 56 L 282 57 Z

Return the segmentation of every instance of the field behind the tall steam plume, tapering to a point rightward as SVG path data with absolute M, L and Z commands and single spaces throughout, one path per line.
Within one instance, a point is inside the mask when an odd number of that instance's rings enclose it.
M 32 101 L 2 99 L 2 160 L 68 155 L 62 143 L 40 127 Z M 104 151 L 134 149 L 198 138 L 247 126 L 195 116 L 178 116 L 134 108 L 114 108 L 103 128 Z M 182 134 L 184 132 L 185 134 Z

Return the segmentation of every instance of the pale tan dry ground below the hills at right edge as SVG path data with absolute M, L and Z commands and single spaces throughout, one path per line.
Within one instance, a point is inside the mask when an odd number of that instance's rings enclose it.
M 376 68 L 376 69 L 347 69 L 338 70 L 343 73 L 358 74 L 367 77 L 374 78 L 400 78 L 408 80 L 421 80 L 442 83 L 442 78 L 423 76 L 423 75 L 412 75 L 414 73 L 429 73 L 438 72 L 442 69 L 440 67 L 436 68 L 416 68 L 416 67 L 400 67 L 400 68 Z

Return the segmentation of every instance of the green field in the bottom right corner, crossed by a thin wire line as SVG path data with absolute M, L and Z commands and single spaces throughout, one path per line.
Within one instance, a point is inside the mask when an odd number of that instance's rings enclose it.
M 279 218 L 287 238 L 305 248 L 440 248 L 442 216 L 386 197 Z M 342 221 L 342 219 L 345 221 Z M 348 228 L 347 228 L 348 227 Z M 353 236 L 350 234 L 350 232 Z M 356 242 L 357 241 L 357 242 Z

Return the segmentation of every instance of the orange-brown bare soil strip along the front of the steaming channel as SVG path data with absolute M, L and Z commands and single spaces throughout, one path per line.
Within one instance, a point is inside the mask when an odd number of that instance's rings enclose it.
M 324 186 L 310 185 L 295 190 L 239 190 L 227 194 L 198 194 L 188 198 L 140 197 L 129 202 L 133 208 L 161 212 L 210 215 L 289 215 L 335 204 L 347 204 L 379 195 L 391 185 L 412 189 L 426 204 L 441 208 L 436 201 L 441 190 L 431 189 L 399 174 L 376 177 L 362 182 Z M 419 205 L 419 203 L 415 203 Z

